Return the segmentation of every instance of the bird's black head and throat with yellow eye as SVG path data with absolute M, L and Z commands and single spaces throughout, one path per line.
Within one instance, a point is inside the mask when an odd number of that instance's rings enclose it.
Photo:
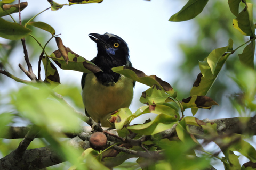
M 90 33 L 89 37 L 97 43 L 98 48 L 98 54 L 92 62 L 103 71 L 95 73 L 98 80 L 102 84 L 117 82 L 120 74 L 114 73 L 111 68 L 125 65 L 131 66 L 127 43 L 119 36 L 111 33 L 103 35 Z

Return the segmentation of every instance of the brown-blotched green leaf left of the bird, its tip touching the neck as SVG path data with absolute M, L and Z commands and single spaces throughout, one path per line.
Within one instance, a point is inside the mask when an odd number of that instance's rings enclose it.
M 75 70 L 83 73 L 97 73 L 102 71 L 97 65 L 79 56 L 78 54 L 65 47 L 67 54 L 67 62 L 60 53 L 60 50 L 56 50 L 49 57 L 64 70 Z

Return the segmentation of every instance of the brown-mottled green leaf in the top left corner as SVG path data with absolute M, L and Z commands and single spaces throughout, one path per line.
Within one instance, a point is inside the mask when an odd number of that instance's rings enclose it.
M 3 1 L 0 2 L 0 17 L 19 12 L 19 4 L 1 5 L 1 3 L 4 3 L 4 2 Z M 24 10 L 27 6 L 28 6 L 27 2 L 21 2 L 20 11 Z

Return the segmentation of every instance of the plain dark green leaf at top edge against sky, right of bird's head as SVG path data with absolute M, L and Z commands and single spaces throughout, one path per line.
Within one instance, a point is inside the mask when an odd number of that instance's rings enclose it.
M 171 16 L 169 21 L 178 22 L 193 19 L 203 11 L 207 2 L 208 0 L 189 0 L 179 12 Z

